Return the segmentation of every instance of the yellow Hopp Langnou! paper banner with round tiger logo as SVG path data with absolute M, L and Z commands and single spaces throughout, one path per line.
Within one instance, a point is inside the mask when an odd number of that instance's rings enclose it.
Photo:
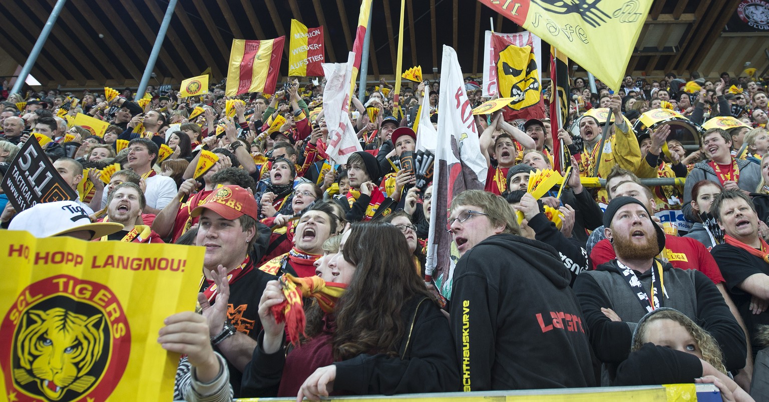
M 195 309 L 204 252 L 0 231 L 0 399 L 173 399 L 158 331 Z

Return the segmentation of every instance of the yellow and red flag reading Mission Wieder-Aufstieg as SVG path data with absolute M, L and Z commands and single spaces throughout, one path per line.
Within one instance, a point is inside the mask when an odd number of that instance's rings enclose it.
M 323 27 L 307 28 L 301 22 L 291 19 L 291 42 L 288 48 L 288 75 L 323 75 Z

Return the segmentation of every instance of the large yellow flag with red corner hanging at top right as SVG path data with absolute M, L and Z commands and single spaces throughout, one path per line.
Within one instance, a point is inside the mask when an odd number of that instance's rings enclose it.
M 555 46 L 617 91 L 652 0 L 478 0 Z

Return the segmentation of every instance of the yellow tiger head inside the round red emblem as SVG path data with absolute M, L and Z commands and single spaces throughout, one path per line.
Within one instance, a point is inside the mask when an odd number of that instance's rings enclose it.
M 13 370 L 15 379 L 36 381 L 49 400 L 87 390 L 96 380 L 87 374 L 104 350 L 105 321 L 101 314 L 86 317 L 61 307 L 27 311 L 16 341 L 21 368 Z

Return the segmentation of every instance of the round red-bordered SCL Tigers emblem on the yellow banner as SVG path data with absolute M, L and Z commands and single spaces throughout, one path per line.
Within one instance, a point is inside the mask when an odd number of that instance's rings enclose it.
M 128 365 L 131 331 L 109 287 L 60 274 L 29 284 L 12 306 L 0 322 L 9 400 L 110 397 Z

